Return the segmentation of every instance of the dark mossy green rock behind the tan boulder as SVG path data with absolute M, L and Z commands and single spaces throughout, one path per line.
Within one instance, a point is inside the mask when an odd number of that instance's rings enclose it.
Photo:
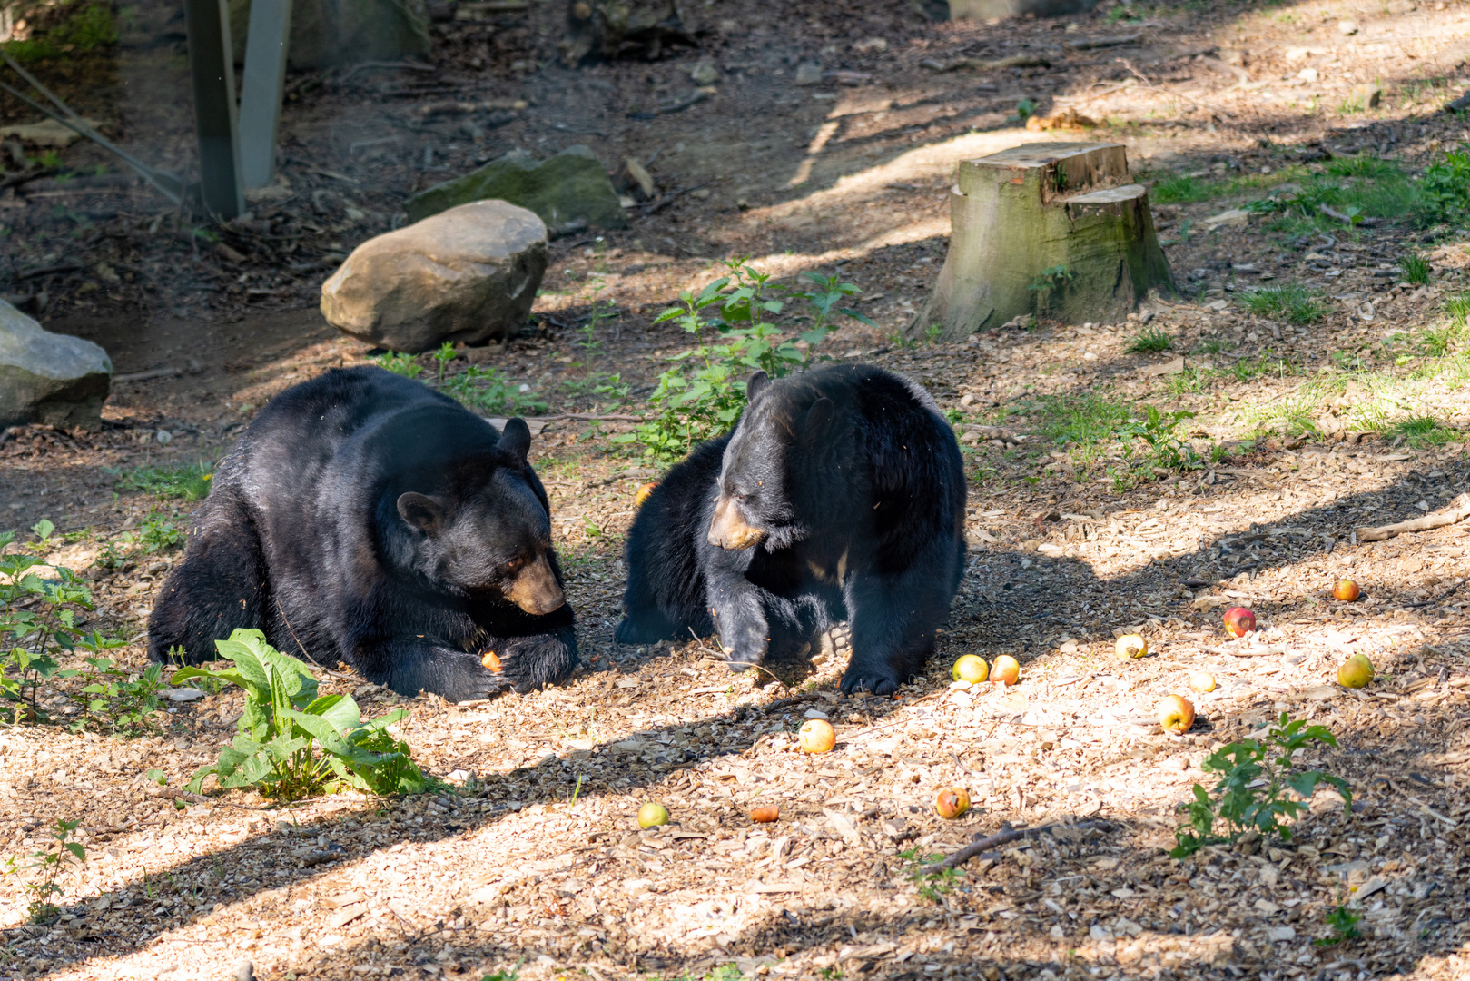
M 584 146 L 567 147 L 538 162 L 512 151 L 478 171 L 419 191 L 404 210 L 409 221 L 437 215 L 456 204 L 495 197 L 529 207 L 551 228 L 585 221 L 598 228 L 626 228 L 628 216 L 603 163 Z

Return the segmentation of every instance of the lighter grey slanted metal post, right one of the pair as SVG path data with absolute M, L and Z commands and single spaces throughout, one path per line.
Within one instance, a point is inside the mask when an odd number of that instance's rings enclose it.
M 275 172 L 290 31 L 291 0 L 251 0 L 240 79 L 240 172 L 248 188 L 265 187 Z

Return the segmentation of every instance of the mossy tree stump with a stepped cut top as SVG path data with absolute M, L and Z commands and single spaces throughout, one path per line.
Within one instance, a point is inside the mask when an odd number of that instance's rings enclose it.
M 1148 188 L 1120 143 L 1029 143 L 963 160 L 950 190 L 950 254 L 910 337 L 960 340 L 1033 313 L 1119 321 L 1150 288 L 1173 291 Z

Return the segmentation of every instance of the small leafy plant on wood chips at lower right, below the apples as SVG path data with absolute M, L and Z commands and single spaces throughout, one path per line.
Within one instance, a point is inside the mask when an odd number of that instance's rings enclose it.
M 1213 793 L 1194 785 L 1194 800 L 1183 805 L 1188 822 L 1175 831 L 1179 844 L 1169 853 L 1188 857 L 1207 844 L 1230 843 L 1247 831 L 1292 837 L 1291 822 L 1307 807 L 1320 784 L 1342 794 L 1344 813 L 1352 806 L 1352 791 L 1341 777 L 1322 771 L 1294 771 L 1292 755 L 1313 743 L 1336 746 L 1338 738 L 1323 725 L 1307 725 L 1282 712 L 1264 740 L 1236 740 L 1205 757 L 1202 768 L 1220 774 Z M 1288 796 L 1295 794 L 1295 799 Z

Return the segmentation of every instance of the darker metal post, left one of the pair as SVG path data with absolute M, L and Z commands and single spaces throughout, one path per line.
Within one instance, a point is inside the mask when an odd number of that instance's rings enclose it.
M 194 78 L 194 129 L 204 209 L 223 219 L 245 210 L 235 137 L 235 59 L 226 0 L 184 0 L 188 68 Z

